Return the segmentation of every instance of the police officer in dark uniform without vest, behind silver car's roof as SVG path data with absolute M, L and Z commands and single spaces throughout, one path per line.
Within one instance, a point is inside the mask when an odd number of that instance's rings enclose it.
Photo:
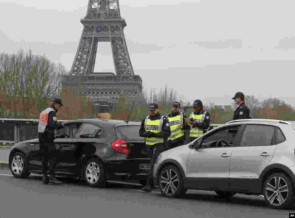
M 237 92 L 232 99 L 235 100 L 237 106 L 232 120 L 251 119 L 251 112 L 245 105 L 245 95 L 242 92 Z

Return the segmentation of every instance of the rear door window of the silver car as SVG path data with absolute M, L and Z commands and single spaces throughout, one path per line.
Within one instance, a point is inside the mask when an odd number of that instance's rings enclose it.
M 241 140 L 241 146 L 270 146 L 275 144 L 275 127 L 267 125 L 247 125 Z

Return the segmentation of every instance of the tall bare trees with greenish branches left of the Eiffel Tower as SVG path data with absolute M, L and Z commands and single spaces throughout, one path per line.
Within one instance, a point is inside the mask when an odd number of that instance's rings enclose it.
M 23 101 L 22 109 L 14 104 L 14 114 L 18 110 L 27 116 L 26 112 L 34 102 L 38 107 L 44 107 L 47 98 L 59 96 L 61 78 L 65 74 L 62 64 L 55 64 L 46 56 L 34 55 L 31 50 L 0 54 L 0 91 L 14 101 L 17 97 L 22 97 Z

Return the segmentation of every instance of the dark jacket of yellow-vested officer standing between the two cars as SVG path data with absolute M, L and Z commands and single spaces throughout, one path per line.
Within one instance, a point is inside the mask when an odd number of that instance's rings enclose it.
M 160 120 L 161 114 L 158 112 L 155 116 L 149 116 L 150 120 Z M 147 132 L 145 131 L 145 118 L 142 120 L 139 130 L 139 136 L 140 137 L 147 137 Z M 164 141 L 167 140 L 167 138 L 171 135 L 170 131 L 170 125 L 166 117 L 163 119 L 163 125 L 162 125 L 162 132 L 160 133 L 153 133 L 152 137 L 157 138 L 164 138 Z M 157 144 L 156 144 L 157 145 Z

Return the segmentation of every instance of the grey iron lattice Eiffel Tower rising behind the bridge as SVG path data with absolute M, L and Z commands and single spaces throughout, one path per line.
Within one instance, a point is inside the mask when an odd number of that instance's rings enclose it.
M 112 109 L 120 94 L 130 101 L 142 101 L 142 79 L 133 72 L 123 33 L 126 21 L 121 17 L 119 0 L 89 0 L 86 16 L 81 19 L 83 31 L 70 75 L 62 79 L 71 87 L 91 97 L 96 105 Z M 98 44 L 111 42 L 115 73 L 94 72 Z

